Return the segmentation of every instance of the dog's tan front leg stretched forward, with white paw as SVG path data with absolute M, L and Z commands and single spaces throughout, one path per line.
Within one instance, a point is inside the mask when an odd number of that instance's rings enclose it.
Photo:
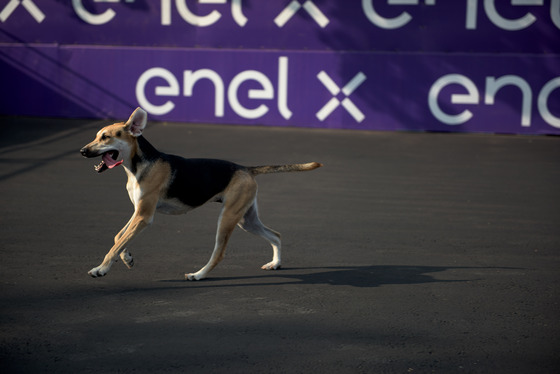
M 115 239 L 117 238 L 118 239 L 116 240 L 115 245 L 113 245 L 111 250 L 105 256 L 105 259 L 103 260 L 101 265 L 91 269 L 88 272 L 88 274 L 94 278 L 102 277 L 106 275 L 109 272 L 109 269 L 111 269 L 111 265 L 113 265 L 113 262 L 117 260 L 117 257 L 119 255 L 122 255 L 122 253 L 124 253 L 126 246 L 138 234 L 140 234 L 150 223 L 152 223 L 154 211 L 155 211 L 155 204 L 154 204 L 154 209 L 149 209 L 148 211 L 146 211 L 146 209 L 138 209 L 136 212 L 134 212 L 134 215 L 132 216 L 131 220 L 129 221 L 127 226 L 125 226 L 125 228 L 123 229 L 124 232 L 122 232 L 121 230 L 121 232 L 117 234 L 117 237 L 115 237 Z M 125 253 L 124 255 L 125 258 L 126 258 L 126 254 L 128 253 Z M 132 260 L 132 257 L 130 257 L 130 259 Z M 125 259 L 123 259 L 123 261 L 125 261 L 126 263 Z

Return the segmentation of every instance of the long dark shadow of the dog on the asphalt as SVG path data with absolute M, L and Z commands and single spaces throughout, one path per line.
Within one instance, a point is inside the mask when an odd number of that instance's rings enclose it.
M 286 284 L 379 287 L 383 285 L 467 282 L 476 280 L 476 278 L 472 277 L 473 274 L 468 274 L 468 269 L 480 270 L 489 268 L 402 265 L 283 268 L 256 276 L 211 277 L 201 282 L 188 283 L 188 285 L 195 288 L 278 286 Z M 463 270 L 467 270 L 467 274 Z M 433 276 L 433 273 L 445 271 L 454 271 L 454 274 L 446 277 L 448 279 Z M 458 271 L 460 271 L 459 275 L 457 275 Z M 464 277 L 465 275 L 469 279 L 461 279 L 461 276 Z M 161 280 L 161 282 L 182 281 Z

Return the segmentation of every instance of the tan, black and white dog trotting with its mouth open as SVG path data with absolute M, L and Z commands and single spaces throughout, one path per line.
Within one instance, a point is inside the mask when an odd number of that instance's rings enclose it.
M 216 159 L 189 159 L 159 152 L 143 136 L 148 115 L 137 108 L 128 121 L 103 127 L 80 153 L 87 158 L 101 156 L 95 170 L 101 173 L 122 165 L 127 176 L 126 189 L 134 213 L 115 236 L 114 245 L 103 262 L 91 269 L 92 277 L 106 275 L 118 257 L 130 269 L 134 265 L 127 250 L 129 243 L 154 220 L 155 212 L 184 214 L 207 202 L 223 204 L 216 243 L 208 263 L 186 280 L 204 279 L 224 258 L 228 240 L 238 225 L 267 240 L 273 249 L 272 261 L 262 266 L 276 270 L 281 266 L 280 234 L 259 219 L 257 183 L 259 174 L 307 171 L 323 166 L 318 162 L 280 166 L 246 167 Z

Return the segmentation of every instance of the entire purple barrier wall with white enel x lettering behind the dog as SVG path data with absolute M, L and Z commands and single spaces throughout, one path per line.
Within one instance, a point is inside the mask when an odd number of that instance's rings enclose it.
M 0 0 L 0 113 L 560 134 L 560 0 Z

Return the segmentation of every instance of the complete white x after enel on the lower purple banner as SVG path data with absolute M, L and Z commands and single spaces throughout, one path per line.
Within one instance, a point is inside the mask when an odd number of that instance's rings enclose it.
M 366 80 L 366 75 L 362 72 L 359 72 L 348 82 L 342 90 L 334 81 L 325 73 L 321 71 L 317 74 L 317 78 L 323 83 L 323 85 L 329 90 L 329 92 L 333 95 L 333 98 L 329 100 L 316 114 L 319 121 L 323 122 L 325 118 L 331 115 L 331 113 L 338 108 L 340 104 L 346 109 L 348 113 L 356 120 L 356 122 L 362 122 L 366 116 L 358 109 L 358 107 L 348 98 L 352 92 L 358 88 L 360 84 L 362 84 Z M 342 91 L 344 96 L 344 100 L 342 102 L 338 100 L 335 96 L 338 95 Z

